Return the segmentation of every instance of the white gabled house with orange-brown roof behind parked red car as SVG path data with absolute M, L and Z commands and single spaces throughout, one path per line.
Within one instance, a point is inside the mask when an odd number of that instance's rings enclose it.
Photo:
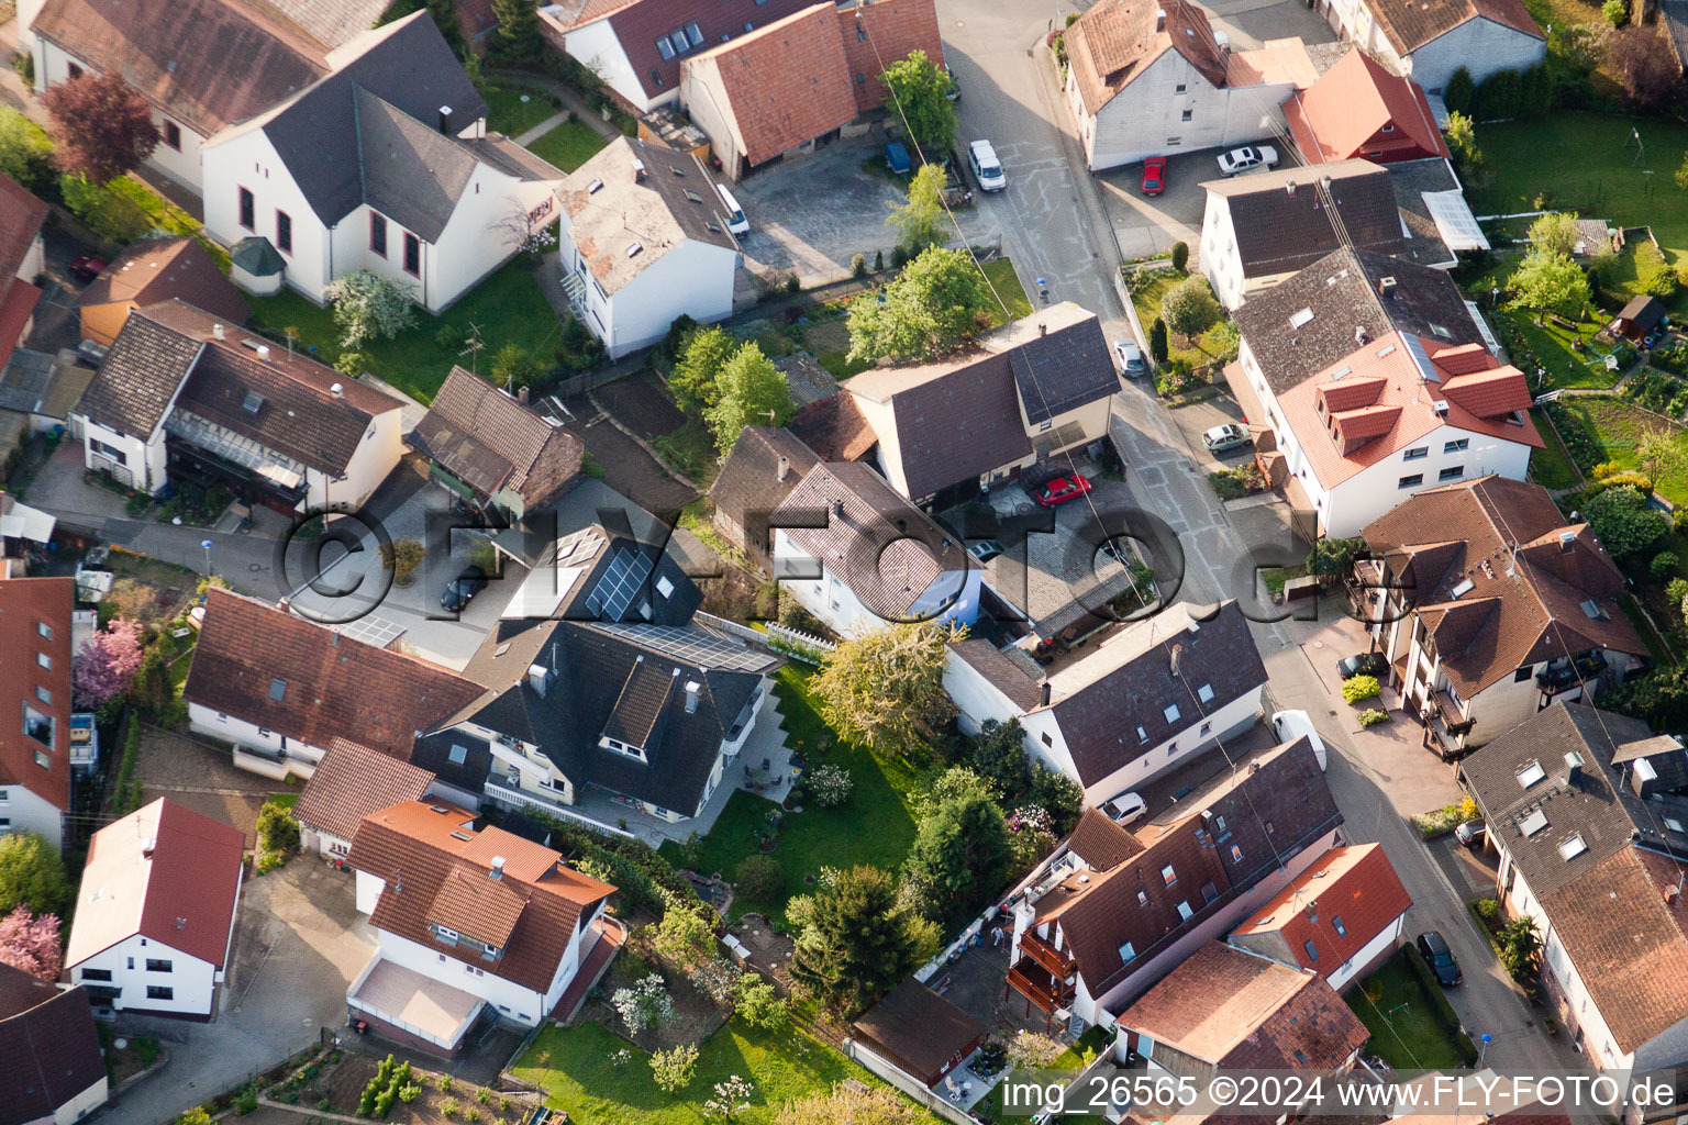
M 1188 0 L 1104 0 L 1063 34 L 1067 106 L 1090 170 L 1283 128 L 1318 69 L 1298 39 L 1234 52 Z

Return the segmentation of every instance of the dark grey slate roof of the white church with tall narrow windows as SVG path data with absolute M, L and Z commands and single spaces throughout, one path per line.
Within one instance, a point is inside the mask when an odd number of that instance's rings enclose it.
M 417 12 L 265 121 L 263 132 L 324 224 L 370 202 L 432 241 L 451 218 L 451 186 L 461 187 L 464 160 L 473 169 L 474 159 L 466 142 L 437 130 L 442 106 L 451 106 L 452 133 L 486 115 L 439 29 Z M 376 199 L 408 201 L 405 213 L 415 223 Z

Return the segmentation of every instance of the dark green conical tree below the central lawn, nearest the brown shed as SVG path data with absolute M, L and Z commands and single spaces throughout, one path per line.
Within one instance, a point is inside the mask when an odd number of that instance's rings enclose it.
M 878 867 L 822 872 L 814 894 L 785 907 L 795 934 L 792 977 L 839 1014 L 873 1004 L 939 950 L 937 926 L 898 902 Z

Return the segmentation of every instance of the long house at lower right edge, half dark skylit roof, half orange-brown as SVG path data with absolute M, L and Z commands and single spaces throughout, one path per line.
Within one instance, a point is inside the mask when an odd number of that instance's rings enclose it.
M 1507 916 L 1543 938 L 1543 983 L 1602 1071 L 1688 1061 L 1681 864 L 1688 752 L 1646 722 L 1550 707 L 1460 764 Z

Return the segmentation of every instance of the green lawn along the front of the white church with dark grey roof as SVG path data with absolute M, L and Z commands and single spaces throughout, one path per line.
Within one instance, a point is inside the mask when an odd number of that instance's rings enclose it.
M 277 332 L 295 329 L 299 347 L 316 349 L 316 358 L 322 363 L 331 364 L 339 358 L 339 327 L 329 309 L 321 309 L 292 290 L 246 300 L 258 324 Z M 457 347 L 441 347 L 439 331 L 447 324 L 459 332 L 468 332 L 471 326 L 479 329 L 486 342 L 479 356 L 483 373 L 505 344 L 520 344 L 549 366 L 562 329 L 557 314 L 545 304 L 538 280 L 520 261 L 511 261 L 469 290 L 444 315 L 436 317 L 419 309 L 415 327 L 365 347 L 370 371 L 424 403 L 432 401 L 451 364 L 469 366 Z

